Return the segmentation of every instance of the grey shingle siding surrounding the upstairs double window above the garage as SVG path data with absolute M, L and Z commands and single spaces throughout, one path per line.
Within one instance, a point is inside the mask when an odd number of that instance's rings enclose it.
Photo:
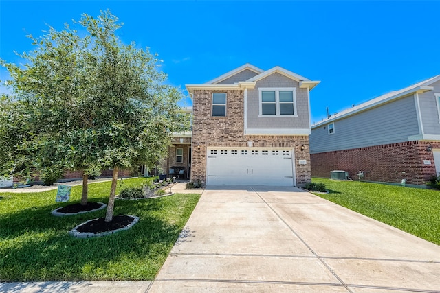
M 259 88 L 296 87 L 296 110 L 298 117 L 259 117 Z M 307 89 L 300 89 L 299 83 L 280 73 L 256 82 L 255 89 L 248 90 L 248 128 L 310 128 L 309 99 Z

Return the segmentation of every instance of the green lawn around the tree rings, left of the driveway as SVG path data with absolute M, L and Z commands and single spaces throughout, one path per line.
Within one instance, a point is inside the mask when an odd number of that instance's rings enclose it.
M 121 187 L 144 182 L 125 179 Z M 111 182 L 89 185 L 89 202 L 108 202 Z M 118 192 L 117 192 L 118 193 Z M 162 267 L 199 194 L 149 200 L 116 200 L 114 215 L 137 215 L 128 231 L 90 239 L 68 231 L 106 209 L 55 217 L 52 210 L 80 202 L 81 187 L 69 203 L 55 202 L 56 190 L 0 193 L 0 281 L 152 280 Z

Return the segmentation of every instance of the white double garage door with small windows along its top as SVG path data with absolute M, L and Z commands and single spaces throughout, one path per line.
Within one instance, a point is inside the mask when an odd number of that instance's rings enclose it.
M 208 148 L 208 185 L 294 186 L 294 154 L 281 148 Z

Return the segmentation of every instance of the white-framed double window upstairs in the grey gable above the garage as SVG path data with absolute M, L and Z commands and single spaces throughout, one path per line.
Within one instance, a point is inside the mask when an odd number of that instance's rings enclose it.
M 296 116 L 296 88 L 260 88 L 260 116 Z

